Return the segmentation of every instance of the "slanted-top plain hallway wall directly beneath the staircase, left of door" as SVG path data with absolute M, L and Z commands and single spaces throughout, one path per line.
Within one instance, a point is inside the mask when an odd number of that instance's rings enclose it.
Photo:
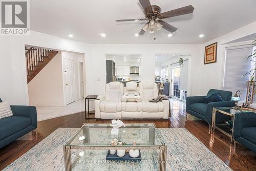
M 65 105 L 60 52 L 28 83 L 28 91 L 29 105 Z

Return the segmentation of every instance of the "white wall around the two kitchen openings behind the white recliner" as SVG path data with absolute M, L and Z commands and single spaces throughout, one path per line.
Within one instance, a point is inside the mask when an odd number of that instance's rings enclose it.
M 191 55 L 191 59 L 200 58 L 202 56 L 201 45 L 164 45 L 164 44 L 94 44 L 91 49 L 91 58 L 88 62 L 88 70 L 90 73 L 87 77 L 91 81 L 88 84 L 90 94 L 103 95 L 106 82 L 105 55 L 106 54 L 141 54 L 141 80 L 154 81 L 155 75 L 155 56 L 156 54 L 187 54 Z M 193 63 L 193 62 L 192 62 Z M 97 66 L 97 67 L 95 67 Z M 195 65 L 191 65 L 191 72 L 195 69 Z M 97 81 L 99 78 L 99 81 Z M 190 77 L 189 86 L 193 94 L 193 87 L 200 86 L 199 82 L 193 83 L 195 77 Z M 195 93 L 194 93 L 195 94 Z

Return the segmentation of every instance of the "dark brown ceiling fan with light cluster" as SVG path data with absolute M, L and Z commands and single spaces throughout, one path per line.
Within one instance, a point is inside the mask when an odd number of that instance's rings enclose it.
M 164 22 L 161 19 L 185 15 L 193 13 L 194 7 L 189 5 L 186 7 L 178 8 L 175 10 L 170 10 L 167 12 L 161 13 L 161 8 L 156 5 L 151 5 L 150 0 L 139 0 L 142 8 L 144 9 L 145 18 L 138 18 L 138 19 L 117 19 L 116 22 L 130 22 L 130 21 L 144 21 L 148 20 L 148 22 L 142 27 L 139 35 L 143 35 L 145 32 L 148 31 L 150 33 L 155 33 L 155 31 L 164 28 L 165 30 L 173 33 L 177 30 L 176 27 Z

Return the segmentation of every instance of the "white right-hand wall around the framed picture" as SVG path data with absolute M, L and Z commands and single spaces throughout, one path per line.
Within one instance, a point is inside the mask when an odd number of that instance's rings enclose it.
M 193 94 L 205 95 L 207 91 L 211 88 L 222 89 L 223 75 L 224 75 L 223 74 L 224 60 L 225 60 L 225 50 L 224 50 L 225 45 L 223 44 L 255 32 L 256 32 L 256 22 L 251 23 L 240 29 L 234 30 L 214 40 L 206 42 L 202 46 L 201 57 L 193 59 L 193 63 L 196 63 L 197 67 L 194 68 L 194 71 L 193 71 L 194 80 L 192 84 L 196 85 L 199 83 L 198 86 L 193 87 Z M 217 62 L 204 65 L 204 47 L 214 42 L 218 42 Z

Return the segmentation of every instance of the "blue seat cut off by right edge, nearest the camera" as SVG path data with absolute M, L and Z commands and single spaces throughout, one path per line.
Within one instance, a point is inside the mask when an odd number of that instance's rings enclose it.
M 234 118 L 234 140 L 256 153 L 256 113 L 236 113 Z

